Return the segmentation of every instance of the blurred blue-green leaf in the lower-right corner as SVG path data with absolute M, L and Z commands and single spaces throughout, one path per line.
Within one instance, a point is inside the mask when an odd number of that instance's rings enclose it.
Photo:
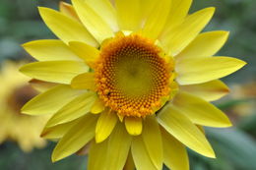
M 237 169 L 255 170 L 256 142 L 238 129 L 206 129 L 214 148 L 222 149 L 222 154 Z M 217 155 L 219 156 L 219 155 Z

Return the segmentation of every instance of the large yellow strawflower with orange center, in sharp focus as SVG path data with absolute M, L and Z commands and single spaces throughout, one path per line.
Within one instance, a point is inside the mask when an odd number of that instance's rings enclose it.
M 218 79 L 245 62 L 214 56 L 227 31 L 200 31 L 215 9 L 188 15 L 191 0 L 72 0 L 39 7 L 60 40 L 24 44 L 38 62 L 21 72 L 54 83 L 23 107 L 52 114 L 41 136 L 59 139 L 57 161 L 89 147 L 89 170 L 189 169 L 185 146 L 215 157 L 203 126 L 229 127 L 210 104 Z M 44 83 L 47 85 L 47 83 Z

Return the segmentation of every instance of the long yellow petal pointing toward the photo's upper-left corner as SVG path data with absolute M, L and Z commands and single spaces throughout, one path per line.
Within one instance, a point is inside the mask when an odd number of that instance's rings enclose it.
M 52 9 L 43 7 L 39 7 L 38 9 L 47 27 L 65 43 L 82 41 L 92 46 L 98 46 L 96 39 L 82 24 Z

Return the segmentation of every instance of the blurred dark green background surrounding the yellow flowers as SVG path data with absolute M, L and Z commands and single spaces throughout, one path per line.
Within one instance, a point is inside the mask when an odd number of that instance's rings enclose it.
M 57 9 L 58 3 L 58 0 L 0 0 L 2 72 L 6 60 L 30 60 L 29 54 L 20 44 L 34 39 L 55 38 L 40 20 L 36 7 Z M 191 170 L 256 170 L 256 1 L 195 0 L 190 12 L 209 6 L 217 7 L 217 11 L 206 30 L 230 31 L 229 39 L 219 54 L 238 57 L 248 64 L 224 79 L 224 83 L 230 86 L 230 94 L 215 103 L 227 113 L 234 127 L 206 129 L 218 158 L 205 158 L 189 150 Z M 0 76 L 2 84 L 1 80 Z M 7 85 L 1 85 L 2 90 L 5 87 Z M 22 99 L 17 102 L 22 104 L 25 101 Z M 0 114 L 0 119 L 2 118 Z M 0 143 L 3 131 L 3 123 L 0 121 Z M 28 133 L 31 132 L 24 132 L 25 135 Z M 0 144 L 0 170 L 86 169 L 86 156 L 73 155 L 52 164 L 50 155 L 54 145 L 54 142 L 47 142 L 46 145 L 34 144 L 40 148 L 32 149 L 26 147 L 26 142 L 19 142 L 18 145 L 15 139 L 10 138 Z

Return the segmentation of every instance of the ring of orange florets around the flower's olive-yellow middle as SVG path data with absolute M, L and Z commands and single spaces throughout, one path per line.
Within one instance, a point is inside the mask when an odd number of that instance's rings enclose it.
M 134 54 L 152 68 L 154 85 L 147 95 L 129 97 L 116 86 L 116 62 L 123 55 Z M 140 35 L 118 36 L 102 48 L 96 62 L 96 91 L 111 110 L 120 116 L 145 117 L 154 114 L 170 93 L 173 66 L 160 56 L 160 48 Z

